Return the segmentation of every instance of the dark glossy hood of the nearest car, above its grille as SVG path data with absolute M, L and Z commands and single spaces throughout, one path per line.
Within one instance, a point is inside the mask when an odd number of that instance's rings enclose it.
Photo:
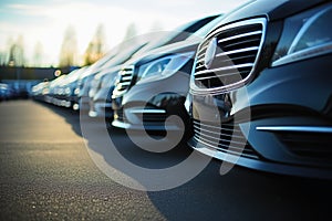
M 262 15 L 270 21 L 280 20 L 323 2 L 328 0 L 253 0 L 226 14 L 222 23 Z

